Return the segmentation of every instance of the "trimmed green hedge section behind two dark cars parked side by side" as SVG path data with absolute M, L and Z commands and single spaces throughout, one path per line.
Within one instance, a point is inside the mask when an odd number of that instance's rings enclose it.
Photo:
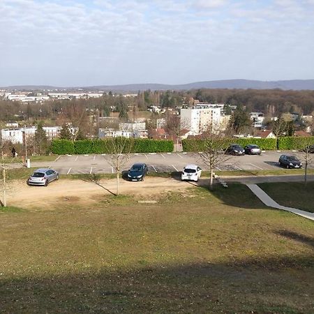
M 237 138 L 234 137 L 229 140 L 222 140 L 226 143 L 232 144 L 240 144 L 241 146 L 245 147 L 248 144 L 256 144 L 262 150 L 274 150 L 276 149 L 276 138 Z M 222 147 L 223 145 L 218 144 L 217 147 Z M 202 151 L 204 148 L 204 140 L 182 140 L 182 147 L 184 151 Z M 227 148 L 227 147 L 225 147 Z

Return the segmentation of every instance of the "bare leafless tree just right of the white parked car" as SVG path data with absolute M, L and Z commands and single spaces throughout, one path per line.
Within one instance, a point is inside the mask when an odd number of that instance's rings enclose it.
M 231 131 L 221 132 L 216 128 L 214 131 L 204 132 L 188 141 L 192 145 L 193 151 L 199 151 L 197 157 L 209 167 L 209 188 L 212 190 L 215 168 L 230 159 L 230 156 L 226 155 L 225 152 L 232 143 Z

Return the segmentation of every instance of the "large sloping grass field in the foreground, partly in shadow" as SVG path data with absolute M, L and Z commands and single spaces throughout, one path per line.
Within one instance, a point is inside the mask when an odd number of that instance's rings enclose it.
M 137 200 L 0 211 L 0 312 L 313 313 L 313 221 L 241 184 Z

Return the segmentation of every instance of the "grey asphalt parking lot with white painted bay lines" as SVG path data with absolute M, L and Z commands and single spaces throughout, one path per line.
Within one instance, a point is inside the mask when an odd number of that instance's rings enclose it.
M 278 165 L 281 154 L 292 154 L 301 158 L 296 151 L 265 151 L 261 155 L 227 156 L 227 160 L 217 166 L 217 170 L 275 170 L 283 169 Z M 50 163 L 32 163 L 31 167 L 52 167 L 60 174 L 92 174 L 114 173 L 114 168 L 108 162 L 108 157 L 103 155 L 68 155 L 59 156 Z M 222 159 L 225 159 L 223 156 Z M 150 172 L 181 171 L 189 163 L 200 165 L 203 170 L 208 170 L 199 154 L 173 152 L 163 154 L 130 154 L 130 159 L 121 170 L 128 170 L 135 162 L 146 163 Z M 311 166 L 313 167 L 313 165 Z

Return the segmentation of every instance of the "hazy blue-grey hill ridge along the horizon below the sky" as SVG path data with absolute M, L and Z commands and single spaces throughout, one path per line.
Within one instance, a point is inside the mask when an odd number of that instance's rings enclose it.
M 283 90 L 314 90 L 314 80 L 281 80 L 281 81 L 258 81 L 258 80 L 219 80 L 194 82 L 188 84 L 124 84 L 124 85 L 99 85 L 90 87 L 53 87 L 48 85 L 25 85 L 2 87 L 3 89 L 17 89 L 19 91 L 33 90 L 66 90 L 77 91 L 115 91 L 115 92 L 137 92 L 147 89 L 155 90 L 188 90 L 188 89 L 283 89 Z

